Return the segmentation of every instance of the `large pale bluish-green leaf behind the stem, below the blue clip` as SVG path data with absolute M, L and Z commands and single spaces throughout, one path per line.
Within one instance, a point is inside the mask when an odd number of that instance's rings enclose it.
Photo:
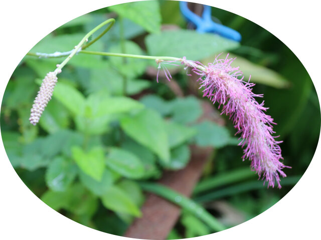
M 194 30 L 168 30 L 150 34 L 145 38 L 147 52 L 154 56 L 186 56 L 201 60 L 222 51 L 236 48 L 239 43 L 213 33 Z

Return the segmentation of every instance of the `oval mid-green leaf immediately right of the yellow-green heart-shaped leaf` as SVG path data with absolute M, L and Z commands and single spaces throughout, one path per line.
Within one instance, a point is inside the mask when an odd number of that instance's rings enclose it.
M 144 166 L 137 156 L 121 148 L 110 148 L 106 164 L 114 171 L 128 178 L 140 178 L 144 174 Z

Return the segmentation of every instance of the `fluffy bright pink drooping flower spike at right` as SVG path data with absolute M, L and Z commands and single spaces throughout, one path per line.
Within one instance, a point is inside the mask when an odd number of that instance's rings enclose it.
M 273 133 L 273 118 L 267 115 L 264 101 L 258 103 L 254 97 L 262 97 L 262 94 L 254 94 L 254 83 L 243 80 L 243 73 L 239 67 L 231 66 L 234 59 L 215 58 L 213 63 L 207 66 L 197 61 L 182 58 L 182 64 L 191 67 L 198 74 L 200 88 L 203 96 L 208 97 L 213 104 L 222 106 L 222 114 L 226 114 L 234 123 L 242 139 L 239 145 L 244 148 L 244 159 L 251 161 L 251 168 L 259 177 L 268 182 L 268 186 L 274 187 L 275 182 L 280 188 L 280 176 L 285 177 L 282 171 L 285 166 L 280 160 L 281 141 L 275 140 Z

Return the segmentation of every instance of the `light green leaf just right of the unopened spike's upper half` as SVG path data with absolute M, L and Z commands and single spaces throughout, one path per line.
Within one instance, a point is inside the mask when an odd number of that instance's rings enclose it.
M 58 99 L 74 115 L 80 114 L 85 104 L 84 96 L 71 85 L 64 82 L 57 82 L 53 96 Z

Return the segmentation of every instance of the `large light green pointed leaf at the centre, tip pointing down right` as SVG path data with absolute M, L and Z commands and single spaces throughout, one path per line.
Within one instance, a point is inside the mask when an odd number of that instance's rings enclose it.
M 170 160 L 168 134 L 162 117 L 150 109 L 121 119 L 121 127 L 131 138 L 148 147 L 163 161 Z

